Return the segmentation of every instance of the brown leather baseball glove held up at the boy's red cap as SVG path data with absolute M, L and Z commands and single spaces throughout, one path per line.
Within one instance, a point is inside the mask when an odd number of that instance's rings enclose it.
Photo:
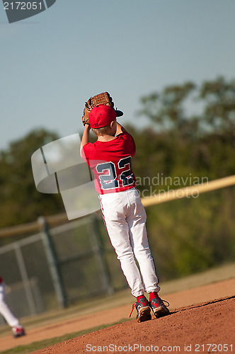
M 81 120 L 83 125 L 90 124 L 89 123 L 89 113 L 95 105 L 109 105 L 114 109 L 113 98 L 110 96 L 108 92 L 99 93 L 96 96 L 90 97 L 88 101 L 85 102 L 84 115 Z M 120 117 L 123 113 L 120 110 L 115 110 L 117 116 Z

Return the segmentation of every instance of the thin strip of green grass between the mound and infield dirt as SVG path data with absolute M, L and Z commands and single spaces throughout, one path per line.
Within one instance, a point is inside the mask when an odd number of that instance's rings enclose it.
M 68 334 L 65 334 L 64 336 L 49 338 L 49 339 L 45 339 L 44 341 L 33 342 L 33 343 L 28 344 L 27 346 L 18 346 L 15 348 L 4 350 L 3 352 L 1 352 L 1 354 L 15 354 L 15 353 L 30 354 L 30 353 L 35 352 L 36 350 L 45 349 L 50 346 L 55 346 L 55 344 L 57 344 L 57 343 L 62 343 L 64 341 L 68 341 L 69 339 L 83 336 L 84 334 L 87 334 L 87 333 L 98 331 L 99 329 L 106 329 L 110 326 L 114 326 L 115 324 L 120 324 L 121 322 L 126 322 L 126 321 L 130 321 L 130 319 L 122 319 L 118 322 L 114 322 L 113 324 L 105 324 L 103 326 L 96 326 L 96 327 L 93 327 L 92 329 L 86 329 L 86 330 L 79 331 L 79 332 L 68 333 Z

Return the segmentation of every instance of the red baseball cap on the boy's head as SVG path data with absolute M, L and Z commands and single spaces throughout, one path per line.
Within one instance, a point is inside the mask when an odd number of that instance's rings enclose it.
M 89 114 L 89 122 L 92 128 L 102 128 L 113 122 L 116 117 L 116 111 L 109 105 L 96 105 Z

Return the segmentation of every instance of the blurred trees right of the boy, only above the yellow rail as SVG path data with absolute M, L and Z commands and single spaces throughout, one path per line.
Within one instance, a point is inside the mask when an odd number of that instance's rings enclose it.
M 168 86 L 141 103 L 139 115 L 151 128 L 132 130 L 139 176 L 192 173 L 214 179 L 235 173 L 235 80 Z

